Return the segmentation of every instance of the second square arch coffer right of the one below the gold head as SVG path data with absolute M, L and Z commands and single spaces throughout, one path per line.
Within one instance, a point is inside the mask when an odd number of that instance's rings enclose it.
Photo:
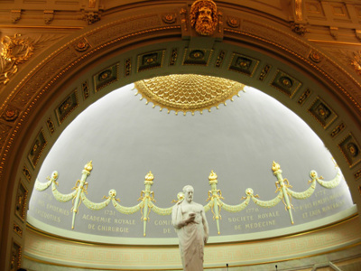
M 298 79 L 294 79 L 291 75 L 282 70 L 277 70 L 277 73 L 271 82 L 273 88 L 280 90 L 290 98 L 292 98 L 296 91 L 301 88 L 301 85 L 302 84 Z

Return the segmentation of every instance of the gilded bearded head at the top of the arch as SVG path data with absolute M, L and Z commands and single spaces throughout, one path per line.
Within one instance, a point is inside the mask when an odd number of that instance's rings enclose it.
M 197 0 L 190 7 L 190 24 L 201 35 L 211 35 L 218 23 L 217 5 L 212 0 Z

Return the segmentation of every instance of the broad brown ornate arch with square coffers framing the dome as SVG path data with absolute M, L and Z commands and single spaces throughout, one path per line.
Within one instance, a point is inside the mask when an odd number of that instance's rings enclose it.
M 189 12 L 185 4 L 118 12 L 42 52 L 0 93 L 5 119 L 0 262 L 5 270 L 14 251 L 21 253 L 33 183 L 61 131 L 109 91 L 153 76 L 221 76 L 277 98 L 322 138 L 359 206 L 361 87 L 354 75 L 281 23 L 219 6 L 222 26 L 214 37 L 199 38 L 180 14 L 182 8 Z M 195 51 L 203 56 L 195 57 Z M 104 71 L 107 76 L 100 79 Z

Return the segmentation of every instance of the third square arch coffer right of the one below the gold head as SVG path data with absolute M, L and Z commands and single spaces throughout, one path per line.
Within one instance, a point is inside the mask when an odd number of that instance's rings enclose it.
M 319 97 L 316 98 L 308 111 L 325 129 L 338 117 L 335 111 Z

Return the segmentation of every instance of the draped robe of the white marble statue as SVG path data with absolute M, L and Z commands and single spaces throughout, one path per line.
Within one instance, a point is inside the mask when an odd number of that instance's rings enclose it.
M 183 218 L 181 210 L 181 201 L 178 202 L 172 210 L 172 223 L 178 225 Z M 203 208 L 203 207 L 202 207 Z M 203 270 L 203 248 L 204 248 L 204 229 L 202 223 L 190 223 L 180 229 L 177 229 L 180 241 L 180 257 L 184 271 L 202 271 Z

